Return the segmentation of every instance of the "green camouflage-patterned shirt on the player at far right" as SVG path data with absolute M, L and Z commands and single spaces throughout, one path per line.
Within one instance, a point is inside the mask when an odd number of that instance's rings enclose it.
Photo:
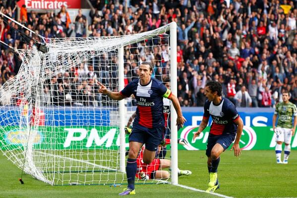
M 274 114 L 279 115 L 277 127 L 293 128 L 293 116 L 297 116 L 296 105 L 292 102 L 279 102 L 276 105 Z

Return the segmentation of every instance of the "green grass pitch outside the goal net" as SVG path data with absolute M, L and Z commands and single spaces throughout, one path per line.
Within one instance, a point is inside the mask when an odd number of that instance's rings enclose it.
M 208 183 L 205 151 L 178 151 L 180 169 L 192 171 L 191 176 L 178 178 L 181 185 L 205 190 Z M 297 197 L 297 155 L 292 151 L 289 164 L 276 164 L 274 150 L 242 151 L 239 158 L 233 151 L 221 156 L 218 169 L 221 188 L 216 193 L 235 198 Z M 0 198 L 118 198 L 125 186 L 49 186 L 24 175 L 0 153 Z M 168 184 L 136 185 L 140 198 L 214 198 Z

